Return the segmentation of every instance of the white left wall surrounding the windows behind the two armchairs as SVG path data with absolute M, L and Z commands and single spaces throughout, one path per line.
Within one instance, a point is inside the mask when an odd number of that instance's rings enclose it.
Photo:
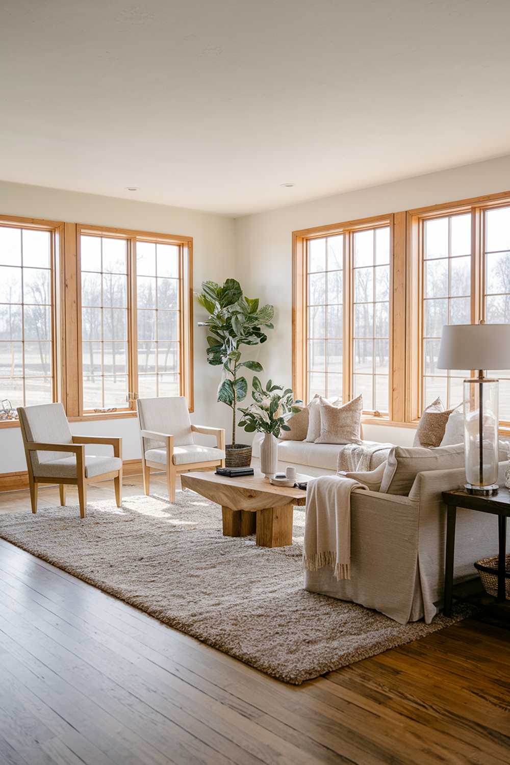
M 237 265 L 234 221 L 226 216 L 2 181 L 0 214 L 193 236 L 196 291 L 204 279 L 223 282 L 232 277 Z M 203 310 L 195 303 L 194 311 L 196 324 Z M 197 326 L 194 329 L 195 411 L 191 415 L 192 421 L 229 428 L 229 409 L 216 402 L 218 370 L 205 360 L 205 332 Z M 125 460 L 140 457 L 135 418 L 76 422 L 72 424 L 72 430 L 76 434 L 122 436 Z M 0 474 L 17 470 L 26 470 L 19 428 L 0 429 Z

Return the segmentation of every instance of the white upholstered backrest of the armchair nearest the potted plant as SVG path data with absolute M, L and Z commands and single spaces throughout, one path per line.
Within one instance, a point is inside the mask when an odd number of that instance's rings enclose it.
M 138 399 L 137 406 L 141 430 L 173 435 L 174 446 L 194 444 L 190 412 L 188 412 L 187 401 L 184 396 Z M 145 450 L 158 449 L 164 446 L 164 441 L 144 438 Z

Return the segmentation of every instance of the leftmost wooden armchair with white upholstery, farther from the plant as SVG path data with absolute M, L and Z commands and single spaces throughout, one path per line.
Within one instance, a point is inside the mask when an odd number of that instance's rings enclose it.
M 32 513 L 37 513 L 39 483 L 58 483 L 62 505 L 66 503 L 66 487 L 78 487 L 80 517 L 85 518 L 87 484 L 113 478 L 115 500 L 117 506 L 121 506 L 122 438 L 71 435 L 61 404 L 20 406 L 18 415 L 27 460 Z M 109 444 L 113 448 L 113 457 L 85 454 L 85 444 Z

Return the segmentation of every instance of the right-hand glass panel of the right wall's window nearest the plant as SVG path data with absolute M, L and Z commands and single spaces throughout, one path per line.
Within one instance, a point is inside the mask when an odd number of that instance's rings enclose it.
M 389 410 L 390 229 L 352 234 L 352 392 L 363 409 Z

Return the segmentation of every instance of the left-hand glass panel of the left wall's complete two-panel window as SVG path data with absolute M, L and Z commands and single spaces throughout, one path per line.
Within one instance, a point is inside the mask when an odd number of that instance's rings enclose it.
M 83 409 L 127 409 L 128 242 L 82 235 Z

